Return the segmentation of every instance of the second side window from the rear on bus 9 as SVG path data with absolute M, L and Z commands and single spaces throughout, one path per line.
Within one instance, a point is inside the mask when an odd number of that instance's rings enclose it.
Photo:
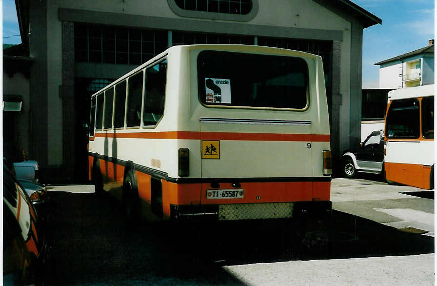
M 126 126 L 139 127 L 141 123 L 143 71 L 128 79 Z

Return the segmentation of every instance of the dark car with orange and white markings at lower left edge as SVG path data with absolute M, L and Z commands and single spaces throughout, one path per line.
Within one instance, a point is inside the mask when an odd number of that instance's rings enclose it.
M 46 242 L 30 198 L 3 163 L 3 285 L 39 282 Z

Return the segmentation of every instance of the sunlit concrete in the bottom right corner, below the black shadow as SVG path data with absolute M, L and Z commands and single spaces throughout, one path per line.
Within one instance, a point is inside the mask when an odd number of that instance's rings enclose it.
M 434 285 L 434 254 L 223 266 L 244 285 Z

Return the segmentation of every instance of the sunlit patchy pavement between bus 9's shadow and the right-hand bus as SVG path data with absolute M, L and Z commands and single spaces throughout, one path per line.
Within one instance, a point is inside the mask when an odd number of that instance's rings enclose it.
M 404 194 L 429 192 L 364 179 L 333 179 L 332 208 L 402 231 L 434 237 L 434 200 Z

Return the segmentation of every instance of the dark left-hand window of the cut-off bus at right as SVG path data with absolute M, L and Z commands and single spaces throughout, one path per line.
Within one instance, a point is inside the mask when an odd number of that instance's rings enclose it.
M 387 138 L 419 138 L 419 101 L 393 101 L 387 113 L 385 129 Z

